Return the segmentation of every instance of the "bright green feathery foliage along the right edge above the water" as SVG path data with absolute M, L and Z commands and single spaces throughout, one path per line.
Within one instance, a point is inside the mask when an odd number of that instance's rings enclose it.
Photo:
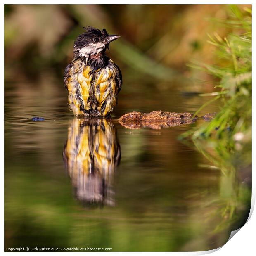
M 235 24 L 236 34 L 221 38 L 215 33 L 209 36 L 209 43 L 217 47 L 218 64 L 190 66 L 205 71 L 219 78 L 215 88 L 217 92 L 201 94 L 202 97 L 215 96 L 206 102 L 195 114 L 211 102 L 220 99 L 223 106 L 210 123 L 193 128 L 183 136 L 223 139 L 226 148 L 241 149 L 251 144 L 251 9 L 241 12 L 236 6 L 231 6 L 232 20 L 223 21 L 225 24 Z

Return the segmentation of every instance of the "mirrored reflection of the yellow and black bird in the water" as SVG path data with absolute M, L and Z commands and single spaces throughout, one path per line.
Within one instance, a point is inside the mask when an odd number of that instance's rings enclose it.
M 75 195 L 84 204 L 114 206 L 114 170 L 121 148 L 111 120 L 74 118 L 63 149 Z

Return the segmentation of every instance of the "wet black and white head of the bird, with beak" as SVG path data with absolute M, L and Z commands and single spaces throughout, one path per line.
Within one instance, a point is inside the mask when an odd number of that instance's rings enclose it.
M 90 26 L 85 27 L 86 32 L 78 36 L 74 43 L 74 55 L 76 57 L 99 57 L 109 49 L 109 43 L 120 36 L 109 35 L 106 29 L 100 31 Z

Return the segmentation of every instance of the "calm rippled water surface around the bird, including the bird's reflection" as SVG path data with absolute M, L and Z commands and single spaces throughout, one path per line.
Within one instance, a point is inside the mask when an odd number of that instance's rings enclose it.
M 6 78 L 5 247 L 204 251 L 244 223 L 250 187 L 178 140 L 193 124 L 130 130 L 116 121 L 129 111 L 194 112 L 208 100 L 155 83 L 124 83 L 132 89 L 112 120 L 86 121 L 68 111 L 62 78 Z

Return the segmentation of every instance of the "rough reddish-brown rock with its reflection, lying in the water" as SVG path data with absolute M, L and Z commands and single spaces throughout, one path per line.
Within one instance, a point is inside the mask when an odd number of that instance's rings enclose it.
M 193 123 L 197 116 L 192 119 L 192 113 L 171 113 L 164 111 L 153 111 L 150 113 L 130 112 L 119 118 L 119 123 L 129 129 L 150 127 L 161 129 L 164 127 L 179 126 Z

